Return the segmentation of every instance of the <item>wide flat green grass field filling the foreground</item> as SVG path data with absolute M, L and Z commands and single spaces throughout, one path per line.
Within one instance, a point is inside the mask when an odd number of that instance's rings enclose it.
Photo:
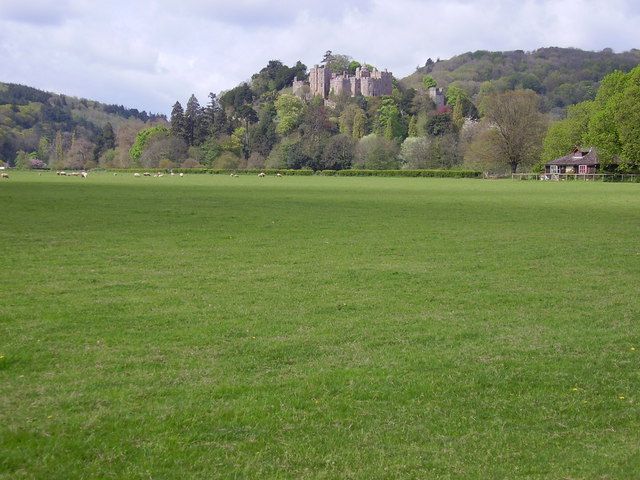
M 0 478 L 640 478 L 640 185 L 0 182 Z

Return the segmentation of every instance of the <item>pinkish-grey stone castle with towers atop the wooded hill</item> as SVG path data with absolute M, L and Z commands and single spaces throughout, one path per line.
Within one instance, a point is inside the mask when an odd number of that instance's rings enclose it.
M 342 95 L 347 93 L 351 97 L 362 95 L 364 97 L 380 97 L 391 95 L 393 88 L 393 75 L 391 72 L 381 72 L 374 68 L 369 71 L 367 66 L 358 67 L 355 75 L 347 72 L 336 75 L 330 68 L 316 65 L 309 70 L 309 81 L 293 79 L 293 93 L 303 96 L 304 89 L 308 85 L 311 96 L 320 95 L 325 100 L 329 94 Z

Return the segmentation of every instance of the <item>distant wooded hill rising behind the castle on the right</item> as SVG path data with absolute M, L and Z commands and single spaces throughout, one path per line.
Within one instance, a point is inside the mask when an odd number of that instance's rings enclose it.
M 605 75 L 614 70 L 628 72 L 638 64 L 638 49 L 623 53 L 557 47 L 532 52 L 478 50 L 449 60 L 429 59 L 401 83 L 417 88 L 425 75 L 431 75 L 439 87 L 457 85 L 472 97 L 483 91 L 529 88 L 543 96 L 547 110 L 553 110 L 594 98 Z

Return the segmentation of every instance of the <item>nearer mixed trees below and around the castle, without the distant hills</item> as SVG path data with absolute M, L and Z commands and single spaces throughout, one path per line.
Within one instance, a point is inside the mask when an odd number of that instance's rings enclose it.
M 345 70 L 361 65 L 332 52 L 322 62 Z M 427 65 L 433 70 L 436 63 Z M 474 95 L 450 84 L 445 89 L 446 104 L 436 105 L 429 89 L 439 84 L 430 74 L 422 75 L 416 87 L 394 80 L 392 94 L 384 97 L 332 94 L 328 102 L 301 98 L 292 94 L 290 84 L 294 77 L 304 78 L 306 70 L 300 61 L 289 67 L 272 60 L 250 81 L 210 93 L 204 105 L 195 95 L 184 107 L 176 101 L 169 121 L 120 116 L 117 124 L 103 122 L 97 128 L 86 112 L 81 119 L 89 126 L 78 123 L 74 110 L 76 125 L 71 133 L 49 131 L 32 151 L 19 151 L 15 163 L 25 168 L 37 168 L 39 160 L 53 168 L 505 172 L 540 168 L 541 160 L 588 143 L 608 161 L 629 159 L 623 167 L 637 169 L 633 143 L 638 124 L 633 113 L 638 105 L 637 69 L 610 74 L 597 95 L 594 92 L 594 100 L 570 107 L 566 119 L 559 121 L 557 112 L 545 107 L 544 97 L 527 88 L 486 88 Z M 28 117 L 29 109 L 33 102 L 18 107 L 16 121 L 20 115 Z M 69 119 L 61 115 L 57 121 Z

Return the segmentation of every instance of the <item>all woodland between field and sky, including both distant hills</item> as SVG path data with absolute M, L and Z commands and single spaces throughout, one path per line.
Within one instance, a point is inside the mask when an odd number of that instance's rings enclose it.
M 331 51 L 322 63 L 335 71 L 361 65 Z M 539 168 L 588 143 L 635 171 L 635 131 L 618 126 L 637 118 L 639 63 L 638 50 L 478 51 L 428 59 L 394 79 L 392 95 L 325 102 L 293 95 L 293 78 L 306 75 L 302 62 L 272 60 L 204 104 L 195 95 L 184 107 L 176 101 L 170 119 L 0 84 L 0 161 L 20 168 L 505 172 Z M 444 89 L 444 106 L 429 96 L 434 86 Z

